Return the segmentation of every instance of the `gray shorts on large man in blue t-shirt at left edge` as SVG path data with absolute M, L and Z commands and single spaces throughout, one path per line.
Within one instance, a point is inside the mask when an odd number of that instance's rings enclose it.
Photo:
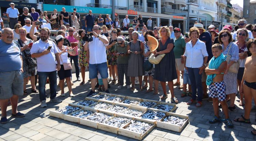
M 0 72 L 0 76 L 0 99 L 23 96 L 23 74 L 20 70 Z

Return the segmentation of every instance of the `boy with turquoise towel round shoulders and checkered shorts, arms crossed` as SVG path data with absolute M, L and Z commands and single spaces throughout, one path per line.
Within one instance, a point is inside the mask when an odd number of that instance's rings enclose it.
M 228 127 L 232 128 L 233 124 L 228 116 L 228 105 L 225 100 L 226 86 L 223 81 L 224 71 L 227 68 L 226 55 L 223 55 L 221 44 L 214 44 L 212 46 L 213 58 L 209 61 L 208 67 L 205 68 L 205 73 L 208 75 L 206 84 L 209 85 L 209 97 L 213 99 L 214 117 L 209 120 L 209 123 L 216 123 L 223 121 Z M 221 103 L 225 119 L 221 120 L 219 117 L 218 104 Z

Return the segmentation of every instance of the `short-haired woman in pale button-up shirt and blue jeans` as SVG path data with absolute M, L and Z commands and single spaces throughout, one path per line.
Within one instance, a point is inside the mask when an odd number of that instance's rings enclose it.
M 186 44 L 184 66 L 188 71 L 188 76 L 192 83 L 192 99 L 187 102 L 187 105 L 195 103 L 198 96 L 196 106 L 201 107 L 203 96 L 202 72 L 206 67 L 208 53 L 205 43 L 198 39 L 199 29 L 197 27 L 189 29 L 189 36 L 191 41 Z

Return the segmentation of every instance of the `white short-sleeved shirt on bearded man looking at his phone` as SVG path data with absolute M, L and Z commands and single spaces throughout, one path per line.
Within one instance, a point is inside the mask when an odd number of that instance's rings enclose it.
M 34 42 L 32 45 L 32 48 L 30 50 L 30 53 L 41 53 L 45 49 L 48 48 L 48 46 L 52 46 L 51 52 L 40 56 L 37 58 L 37 71 L 38 72 L 53 72 L 56 71 L 56 64 L 57 60 L 55 57 L 56 53 L 59 53 L 58 47 L 55 45 L 53 41 L 47 40 L 48 42 L 45 43 L 41 39 Z

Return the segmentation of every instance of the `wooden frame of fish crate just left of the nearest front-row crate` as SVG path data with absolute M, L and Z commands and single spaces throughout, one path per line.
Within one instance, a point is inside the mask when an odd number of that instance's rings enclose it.
M 110 119 L 106 120 L 106 121 L 109 121 L 115 117 L 122 117 L 122 118 L 128 118 L 128 119 L 133 119 L 132 116 L 129 116 L 129 115 L 125 115 L 125 114 L 120 114 L 120 113 L 117 113 L 117 114 L 114 114 L 113 117 L 111 117 Z M 126 125 L 124 125 L 126 126 Z M 123 127 L 124 127 L 123 126 Z M 115 127 L 115 126 L 111 126 L 111 125 L 107 125 L 105 123 L 98 123 L 98 129 L 101 129 L 101 130 L 105 130 L 105 131 L 108 131 L 108 132 L 111 132 L 111 133 L 115 133 L 117 134 L 118 133 L 118 128 L 119 127 Z M 122 128 L 122 127 L 121 127 Z

